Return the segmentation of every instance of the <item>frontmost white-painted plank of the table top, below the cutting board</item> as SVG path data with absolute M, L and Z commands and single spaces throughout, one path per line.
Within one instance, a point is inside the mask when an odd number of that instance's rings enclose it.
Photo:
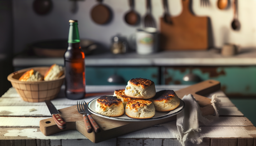
M 162 133 L 161 130 L 163 130 Z M 70 130 L 53 134 L 49 137 L 43 135 L 39 128 L 0 128 L 0 139 L 87 139 L 76 130 Z M 155 133 L 156 132 L 156 133 Z M 154 134 L 155 133 L 155 134 Z M 252 126 L 247 127 L 201 127 L 201 137 L 219 138 L 219 137 L 234 137 L 234 138 L 254 138 L 256 137 L 256 128 Z M 118 138 L 132 138 L 132 139 L 169 139 L 176 138 L 168 129 L 164 127 L 151 127 L 139 130 L 134 133 L 122 135 Z

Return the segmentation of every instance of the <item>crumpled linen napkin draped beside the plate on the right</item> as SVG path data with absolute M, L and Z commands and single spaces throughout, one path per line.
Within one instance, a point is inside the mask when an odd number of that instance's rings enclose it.
M 177 120 L 161 125 L 173 133 L 183 146 L 189 141 L 200 144 L 203 142 L 203 137 L 200 135 L 199 122 L 209 124 L 219 117 L 218 107 L 220 100 L 215 94 L 211 97 L 211 105 L 214 107 L 215 115 L 206 115 L 205 117 L 201 114 L 199 104 L 192 94 L 184 95 L 182 100 L 185 102 L 185 108 L 181 113 L 177 114 Z

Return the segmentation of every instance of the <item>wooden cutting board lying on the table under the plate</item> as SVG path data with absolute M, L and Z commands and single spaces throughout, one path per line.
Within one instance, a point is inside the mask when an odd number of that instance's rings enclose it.
M 201 112 L 203 112 L 204 115 L 209 115 L 214 114 L 214 109 L 210 103 L 211 99 L 206 98 L 203 95 L 213 93 L 219 89 L 220 83 L 218 81 L 206 80 L 204 82 L 191 85 L 188 88 L 177 90 L 175 93 L 179 98 L 183 98 L 183 96 L 187 94 L 193 94 L 195 99 L 198 100 L 201 107 Z M 176 116 L 173 116 L 148 122 L 123 122 L 102 118 L 92 114 L 93 119 L 95 119 L 101 128 L 101 132 L 87 133 L 85 130 L 85 124 L 83 123 L 82 114 L 77 112 L 76 105 L 60 109 L 59 112 L 67 124 L 66 129 L 59 129 L 52 118 L 43 119 L 40 120 L 40 130 L 43 134 L 47 136 L 58 132 L 63 132 L 65 130 L 78 130 L 78 132 L 85 135 L 85 137 L 90 139 L 93 143 L 99 143 L 110 138 L 119 137 L 120 135 L 151 127 L 152 125 L 176 120 Z

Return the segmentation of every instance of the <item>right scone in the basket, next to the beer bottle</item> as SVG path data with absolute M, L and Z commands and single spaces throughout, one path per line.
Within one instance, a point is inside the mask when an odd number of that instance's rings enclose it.
M 64 69 L 62 66 L 57 64 L 52 64 L 52 66 L 45 73 L 45 80 L 55 80 L 61 77 L 64 74 Z

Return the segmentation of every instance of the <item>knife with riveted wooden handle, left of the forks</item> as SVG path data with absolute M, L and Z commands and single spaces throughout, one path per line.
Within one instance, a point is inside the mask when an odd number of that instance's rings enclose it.
M 50 100 L 46 100 L 45 103 L 48 109 L 50 110 L 50 113 L 52 114 L 52 118 L 57 124 L 58 128 L 60 129 L 66 128 L 66 122 L 61 118 L 61 116 L 59 115 L 60 112 L 58 112 L 58 110 L 55 108 L 52 102 Z

